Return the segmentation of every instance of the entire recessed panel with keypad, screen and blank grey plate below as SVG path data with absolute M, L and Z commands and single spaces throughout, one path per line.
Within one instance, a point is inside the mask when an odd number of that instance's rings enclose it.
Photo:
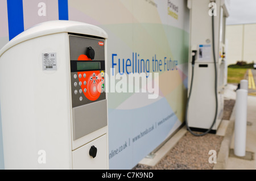
M 69 34 L 73 140 L 107 125 L 105 41 Z

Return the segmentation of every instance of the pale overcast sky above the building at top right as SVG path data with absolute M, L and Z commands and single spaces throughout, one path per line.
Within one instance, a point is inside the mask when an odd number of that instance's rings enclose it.
M 256 0 L 230 0 L 226 24 L 256 23 Z

